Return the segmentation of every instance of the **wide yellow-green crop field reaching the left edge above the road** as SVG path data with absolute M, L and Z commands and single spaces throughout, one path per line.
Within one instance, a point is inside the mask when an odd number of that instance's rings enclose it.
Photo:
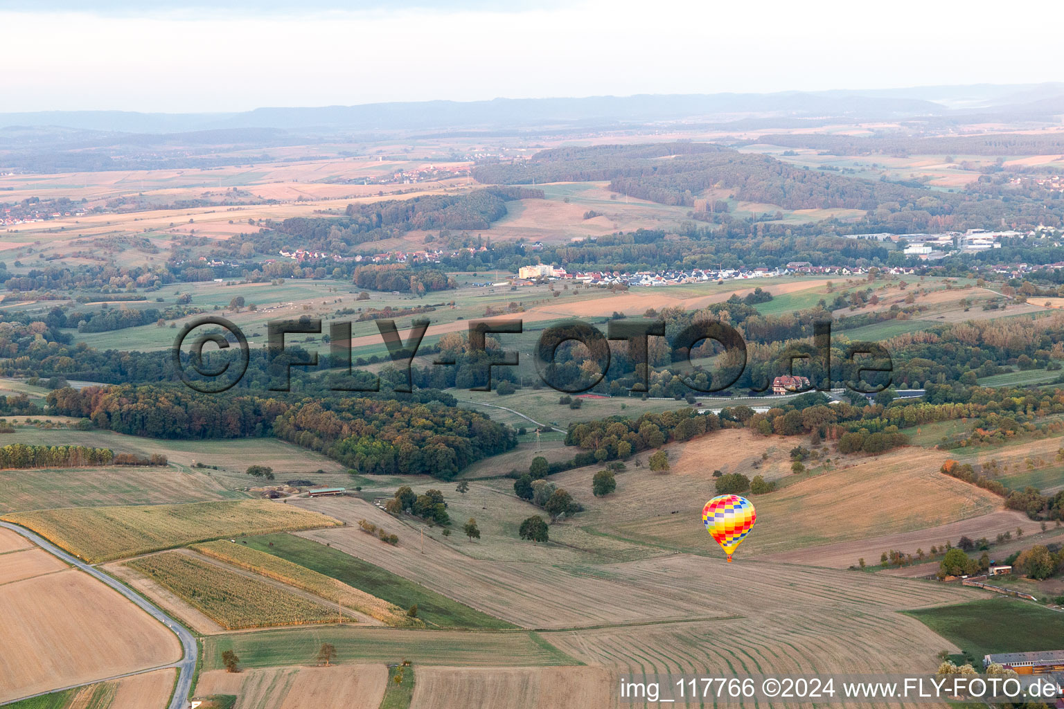
M 139 507 L 81 507 L 3 517 L 90 563 L 198 541 L 338 524 L 321 514 L 263 500 Z

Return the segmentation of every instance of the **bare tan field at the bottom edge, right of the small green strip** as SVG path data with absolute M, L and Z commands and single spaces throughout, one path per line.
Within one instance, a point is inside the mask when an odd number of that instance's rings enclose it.
M 603 668 L 417 668 L 411 709 L 599 709 L 616 706 Z

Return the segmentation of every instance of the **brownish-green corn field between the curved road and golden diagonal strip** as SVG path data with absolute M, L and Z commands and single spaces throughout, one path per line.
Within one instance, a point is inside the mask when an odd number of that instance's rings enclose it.
M 180 552 L 127 562 L 223 628 L 333 623 L 338 610 Z

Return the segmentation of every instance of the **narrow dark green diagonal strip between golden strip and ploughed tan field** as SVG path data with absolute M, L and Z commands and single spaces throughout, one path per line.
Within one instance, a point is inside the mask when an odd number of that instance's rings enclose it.
M 417 615 L 440 628 L 517 627 L 445 595 L 325 544 L 294 535 L 267 535 L 247 540 L 248 546 L 331 576 L 400 608 L 417 604 Z M 272 542 L 272 546 L 270 543 Z

